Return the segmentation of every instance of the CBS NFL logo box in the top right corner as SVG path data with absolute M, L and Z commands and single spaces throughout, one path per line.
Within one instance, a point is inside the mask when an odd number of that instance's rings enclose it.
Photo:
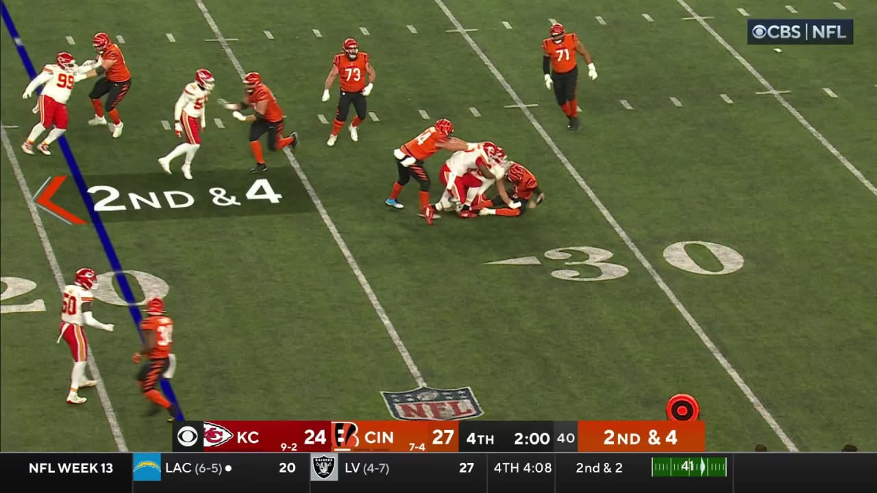
M 746 27 L 750 45 L 852 45 L 852 18 L 754 18 Z

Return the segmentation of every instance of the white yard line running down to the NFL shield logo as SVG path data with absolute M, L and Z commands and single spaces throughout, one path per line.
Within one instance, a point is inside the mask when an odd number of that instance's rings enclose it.
M 203 0 L 195 0 L 195 4 L 198 6 L 198 9 L 201 10 L 203 14 L 204 20 L 207 21 L 207 24 L 210 25 L 210 29 L 216 35 L 217 39 L 219 39 L 219 45 L 222 46 L 225 55 L 228 56 L 228 60 L 232 62 L 234 69 L 238 72 L 238 75 L 241 77 L 244 76 L 244 68 L 241 67 L 240 62 L 238 61 L 238 57 L 234 55 L 232 52 L 232 46 L 229 46 L 228 43 L 225 42 L 222 32 L 219 31 L 219 26 L 217 26 L 216 21 L 213 20 L 213 16 L 210 15 L 210 11 L 207 10 L 207 7 L 204 6 Z M 332 221 L 332 218 L 329 217 L 329 212 L 326 211 L 323 201 L 320 200 L 320 197 L 317 196 L 317 191 L 314 190 L 314 187 L 310 184 L 310 180 L 308 176 L 304 174 L 304 171 L 301 165 L 296 161 L 296 156 L 292 154 L 292 151 L 289 150 L 289 146 L 283 147 L 283 153 L 286 154 L 287 159 L 289 160 L 289 165 L 296 171 L 296 175 L 298 175 L 298 179 L 302 182 L 302 186 L 305 191 L 308 192 L 308 196 L 310 196 L 311 202 L 314 203 L 314 206 L 317 208 L 317 213 L 319 213 L 320 218 L 323 219 L 326 228 L 329 229 L 329 232 L 332 233 L 332 239 L 335 240 L 335 243 L 338 245 L 339 250 L 341 250 L 341 254 L 344 255 L 344 258 L 347 261 L 347 265 L 350 266 L 350 269 L 353 270 L 353 275 L 356 276 L 356 280 L 360 282 L 360 287 L 363 292 L 365 292 L 368 301 L 372 304 L 372 308 L 374 308 L 374 312 L 377 313 L 378 318 L 381 319 L 381 323 L 384 328 L 387 330 L 389 334 L 389 338 L 393 341 L 393 344 L 396 346 L 396 350 L 402 356 L 403 361 L 405 362 L 405 366 L 408 367 L 408 371 L 411 376 L 414 377 L 415 382 L 420 387 L 426 386 L 426 381 L 424 380 L 424 376 L 420 373 L 420 369 L 417 368 L 417 365 L 414 363 L 414 360 L 411 359 L 411 354 L 408 352 L 408 348 L 405 347 L 405 344 L 402 341 L 402 338 L 399 337 L 399 333 L 396 332 L 396 326 L 393 325 L 393 322 L 390 321 L 389 316 L 387 315 L 387 311 L 384 310 L 383 305 L 378 300 L 377 295 L 374 294 L 374 289 L 372 289 L 371 284 L 366 279 L 366 275 L 362 273 L 362 269 L 360 268 L 360 264 L 353 258 L 353 254 L 350 252 L 350 248 L 347 247 L 347 242 L 341 238 L 341 233 L 338 231 L 338 226 Z

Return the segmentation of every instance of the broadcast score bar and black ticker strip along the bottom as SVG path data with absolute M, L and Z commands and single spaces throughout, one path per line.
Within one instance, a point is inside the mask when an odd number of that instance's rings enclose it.
M 877 454 L 705 453 L 702 421 L 184 421 L 173 453 L 3 454 L 67 491 L 672 490 L 877 486 Z

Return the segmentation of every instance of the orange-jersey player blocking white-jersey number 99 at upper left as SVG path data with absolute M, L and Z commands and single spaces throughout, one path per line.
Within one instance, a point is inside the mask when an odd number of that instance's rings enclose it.
M 107 125 L 103 116 L 106 111 L 112 118 L 112 125 L 108 125 L 114 139 L 122 136 L 122 118 L 118 116 L 116 106 L 125 98 L 128 89 L 131 89 L 131 72 L 125 65 L 125 57 L 118 45 L 110 40 L 106 32 L 98 32 L 92 39 L 92 45 L 98 54 L 98 65 L 95 68 L 97 75 L 101 77 L 95 82 L 89 97 L 91 105 L 95 107 L 95 118 L 89 120 L 89 125 Z M 106 103 L 101 103 L 101 97 L 107 96 Z

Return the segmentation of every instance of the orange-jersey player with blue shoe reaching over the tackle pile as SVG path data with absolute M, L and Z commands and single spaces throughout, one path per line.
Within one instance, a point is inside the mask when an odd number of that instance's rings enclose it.
M 432 154 L 439 152 L 439 149 L 447 149 L 449 151 L 465 151 L 469 148 L 466 141 L 451 137 L 453 133 L 453 123 L 446 118 L 440 118 L 433 125 L 417 137 L 405 142 L 401 147 L 393 151 L 393 157 L 396 158 L 396 168 L 399 171 L 399 179 L 393 183 L 393 191 L 390 192 L 389 198 L 384 204 L 402 209 L 396 199 L 402 192 L 405 183 L 408 183 L 413 176 L 417 183 L 420 184 L 420 209 L 418 216 L 426 217 L 426 208 L 430 204 L 430 175 L 426 174 L 424 161 Z M 434 215 L 434 218 L 439 218 Z

